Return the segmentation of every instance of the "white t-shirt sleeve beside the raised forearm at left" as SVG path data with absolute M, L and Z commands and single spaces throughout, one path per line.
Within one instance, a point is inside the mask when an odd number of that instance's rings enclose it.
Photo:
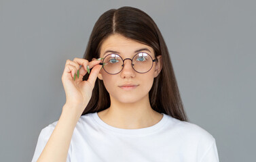
M 35 153 L 33 155 L 32 162 L 36 162 L 39 156 L 41 155 L 43 148 L 45 147 L 46 143 L 48 142 L 52 132 L 54 131 L 54 126 L 47 126 L 43 128 L 39 134 L 39 138 L 37 140 L 37 146 L 35 147 Z M 67 155 L 67 162 L 71 161 L 71 147 L 69 147 L 69 153 Z

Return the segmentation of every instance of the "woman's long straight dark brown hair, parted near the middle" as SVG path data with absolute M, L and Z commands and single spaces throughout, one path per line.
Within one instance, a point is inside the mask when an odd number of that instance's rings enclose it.
M 162 70 L 154 78 L 153 86 L 149 91 L 150 105 L 158 113 L 165 113 L 181 121 L 188 121 L 164 38 L 156 23 L 144 11 L 134 7 L 120 7 L 119 9 L 109 9 L 102 14 L 92 29 L 83 58 L 88 61 L 92 61 L 92 58 L 99 58 L 103 41 L 115 33 L 152 47 L 156 59 L 158 55 L 162 55 Z M 83 80 L 87 79 L 88 74 L 84 76 Z M 92 98 L 82 115 L 103 111 L 109 106 L 109 92 L 107 92 L 103 80 L 97 78 L 92 90 Z

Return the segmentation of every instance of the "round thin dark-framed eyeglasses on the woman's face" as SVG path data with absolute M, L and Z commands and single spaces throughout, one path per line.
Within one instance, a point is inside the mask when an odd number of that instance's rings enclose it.
M 124 60 L 126 59 L 122 59 L 120 55 L 111 53 L 104 57 L 103 63 L 100 63 L 100 65 L 103 65 L 105 72 L 114 75 L 123 70 Z M 130 60 L 132 61 L 133 70 L 141 74 L 149 72 L 153 66 L 153 62 L 156 61 L 156 59 L 152 59 L 151 55 L 147 53 L 137 53 Z

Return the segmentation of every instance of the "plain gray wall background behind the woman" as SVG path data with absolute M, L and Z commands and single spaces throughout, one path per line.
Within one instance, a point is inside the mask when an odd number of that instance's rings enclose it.
M 0 1 L 1 161 L 31 161 L 65 104 L 67 59 L 82 57 L 103 12 L 138 7 L 158 24 L 191 123 L 220 161 L 255 160 L 255 1 Z

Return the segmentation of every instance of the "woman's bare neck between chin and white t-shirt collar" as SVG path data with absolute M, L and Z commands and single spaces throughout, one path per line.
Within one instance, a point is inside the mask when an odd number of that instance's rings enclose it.
M 115 128 L 139 129 L 157 124 L 163 115 L 151 108 L 147 95 L 134 103 L 121 103 L 111 97 L 111 106 L 98 112 L 98 116 Z

